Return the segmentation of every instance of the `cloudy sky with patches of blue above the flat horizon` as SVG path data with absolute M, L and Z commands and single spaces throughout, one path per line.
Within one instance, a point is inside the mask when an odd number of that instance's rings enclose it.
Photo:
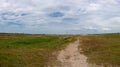
M 0 0 L 0 32 L 120 32 L 120 0 Z

